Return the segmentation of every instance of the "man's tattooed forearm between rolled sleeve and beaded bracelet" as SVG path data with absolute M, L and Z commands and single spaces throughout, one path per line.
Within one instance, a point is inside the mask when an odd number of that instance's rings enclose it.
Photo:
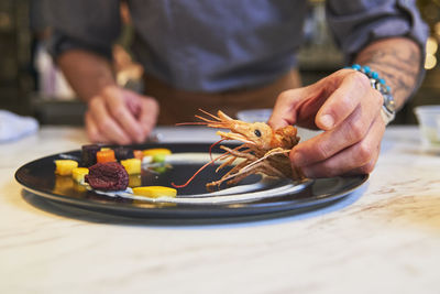
M 421 73 L 420 59 L 421 51 L 415 42 L 394 37 L 369 45 L 355 62 L 380 73 L 392 87 L 398 107 L 402 107 L 414 91 Z

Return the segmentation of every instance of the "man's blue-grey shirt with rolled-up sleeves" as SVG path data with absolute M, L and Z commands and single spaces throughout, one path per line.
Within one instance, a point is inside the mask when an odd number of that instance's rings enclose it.
M 132 51 L 150 75 L 180 89 L 219 91 L 264 85 L 296 66 L 306 0 L 128 0 Z M 51 52 L 86 48 L 111 57 L 121 32 L 119 0 L 53 0 Z M 328 0 L 327 19 L 351 56 L 370 41 L 427 26 L 415 1 Z

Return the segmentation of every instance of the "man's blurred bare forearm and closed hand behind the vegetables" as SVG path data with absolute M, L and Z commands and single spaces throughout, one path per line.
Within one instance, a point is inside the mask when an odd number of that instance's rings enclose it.
M 86 129 L 99 143 L 143 142 L 156 123 L 158 104 L 117 86 L 111 64 L 85 50 L 63 53 L 57 63 L 78 97 L 88 104 Z

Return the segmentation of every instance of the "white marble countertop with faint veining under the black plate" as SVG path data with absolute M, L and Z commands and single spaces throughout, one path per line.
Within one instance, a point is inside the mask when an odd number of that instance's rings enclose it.
M 86 142 L 45 127 L 0 144 L 0 293 L 440 293 L 440 153 L 415 127 L 388 128 L 367 184 L 336 206 L 217 225 L 66 210 L 14 181 Z

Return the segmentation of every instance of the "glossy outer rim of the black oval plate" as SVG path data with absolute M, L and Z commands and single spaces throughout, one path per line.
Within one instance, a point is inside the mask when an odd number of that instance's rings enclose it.
M 130 146 L 191 146 L 191 145 L 198 145 L 198 146 L 209 146 L 211 145 L 210 143 L 169 143 L 169 142 L 158 142 L 158 143 L 145 143 L 145 144 L 138 144 L 138 145 L 130 145 Z M 14 173 L 14 178 L 15 181 L 24 188 L 25 190 L 38 196 L 43 197 L 48 200 L 55 200 L 57 203 L 66 204 L 66 205 L 74 205 L 77 207 L 81 207 L 88 210 L 99 210 L 99 211 L 107 211 L 107 213 L 116 213 L 118 215 L 127 215 L 127 216 L 143 216 L 143 217 L 154 217 L 154 218 L 210 218 L 210 217 L 240 217 L 240 216 L 252 216 L 252 215 L 266 215 L 266 214 L 272 214 L 272 213 L 282 213 L 282 211 L 288 211 L 288 210 L 296 210 L 296 209 L 304 209 L 305 207 L 312 208 L 315 206 L 322 206 L 328 203 L 336 202 L 338 199 L 341 199 L 349 194 L 351 194 L 353 190 L 360 188 L 367 182 L 369 175 L 358 175 L 358 176 L 350 176 L 350 177 L 332 177 L 332 178 L 338 178 L 339 181 L 344 181 L 346 178 L 350 178 L 353 181 L 355 179 L 355 183 L 352 184 L 350 187 L 344 188 L 341 192 L 333 193 L 330 195 L 327 195 L 324 197 L 310 197 L 310 198 L 302 198 L 302 199 L 297 199 L 295 202 L 293 200 L 286 200 L 286 202 L 276 202 L 276 203 L 268 203 L 268 204 L 250 204 L 250 203 L 242 203 L 242 204 L 211 204 L 211 205 L 206 205 L 206 204 L 200 204 L 200 205 L 178 205 L 178 206 L 161 206 L 154 207 L 154 208 L 147 208 L 147 207 L 140 207 L 140 206 L 133 206 L 129 205 L 127 203 L 100 203 L 97 200 L 90 200 L 90 199 L 82 199 L 82 198 L 74 198 L 69 197 L 67 195 L 61 195 L 61 194 L 54 194 L 54 193 L 46 193 L 42 192 L 38 189 L 35 189 L 34 187 L 30 186 L 29 183 L 25 183 L 23 181 L 21 173 L 25 173 L 26 166 L 31 164 L 36 164 L 42 161 L 47 161 L 51 157 L 54 156 L 59 156 L 61 154 L 70 154 L 70 153 L 77 153 L 80 152 L 80 150 L 70 150 L 62 153 L 54 153 L 51 155 L 42 156 L 40 159 L 35 159 L 33 161 L 30 161 L 23 165 L 21 165 Z M 326 178 L 330 179 L 330 178 Z M 321 179 L 314 179 L 314 182 L 319 182 Z M 310 185 L 312 186 L 315 183 L 311 183 Z M 96 194 L 96 193 L 95 193 Z M 100 195 L 102 196 L 102 195 Z M 174 216 L 173 216 L 174 215 Z

